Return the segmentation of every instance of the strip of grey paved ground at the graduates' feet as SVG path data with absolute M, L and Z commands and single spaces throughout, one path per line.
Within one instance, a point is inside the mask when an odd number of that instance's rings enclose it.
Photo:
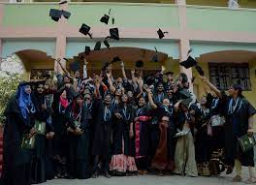
M 225 185 L 241 183 L 232 182 L 232 175 L 220 175 L 217 177 L 184 177 L 178 175 L 157 176 L 157 175 L 139 175 L 129 177 L 112 177 L 107 179 L 99 177 L 97 179 L 90 178 L 87 180 L 66 180 L 55 179 L 44 183 L 44 185 Z M 243 181 L 248 178 L 247 169 L 243 169 Z

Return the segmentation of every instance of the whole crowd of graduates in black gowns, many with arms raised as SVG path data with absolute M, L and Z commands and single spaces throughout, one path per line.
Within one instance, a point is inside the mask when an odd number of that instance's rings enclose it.
M 206 77 L 206 96 L 198 100 L 185 74 L 159 72 L 144 77 L 131 70 L 113 78 L 112 65 L 101 74 L 72 77 L 46 74 L 22 82 L 7 105 L 1 184 L 27 185 L 54 178 L 173 173 L 189 176 L 232 173 L 256 182 L 253 148 L 238 139 L 253 135 L 255 108 L 239 84 L 228 95 Z

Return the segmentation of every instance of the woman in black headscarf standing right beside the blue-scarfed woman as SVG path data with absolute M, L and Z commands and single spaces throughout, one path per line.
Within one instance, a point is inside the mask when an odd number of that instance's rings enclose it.
M 49 139 L 54 135 L 50 120 L 51 108 L 47 96 L 44 94 L 44 85 L 45 82 L 38 82 L 35 92 L 32 94 L 36 108 L 35 126 L 38 132 L 35 138 L 35 150 L 31 166 L 31 178 L 33 183 L 43 183 L 47 181 L 47 138 Z

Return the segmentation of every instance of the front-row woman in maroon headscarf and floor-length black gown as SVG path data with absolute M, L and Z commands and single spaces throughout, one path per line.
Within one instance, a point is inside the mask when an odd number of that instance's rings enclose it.
M 86 179 L 90 177 L 89 170 L 89 110 L 83 105 L 83 97 L 79 94 L 70 112 L 72 125 L 68 128 L 69 157 L 68 170 L 70 178 Z

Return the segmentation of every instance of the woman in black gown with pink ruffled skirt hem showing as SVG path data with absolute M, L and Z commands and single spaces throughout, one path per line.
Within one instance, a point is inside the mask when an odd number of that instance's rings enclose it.
M 113 136 L 112 136 L 112 161 L 110 170 L 113 175 L 132 175 L 137 173 L 135 164 L 134 137 L 134 108 L 128 104 L 128 96 L 123 94 L 122 103 L 114 108 Z

